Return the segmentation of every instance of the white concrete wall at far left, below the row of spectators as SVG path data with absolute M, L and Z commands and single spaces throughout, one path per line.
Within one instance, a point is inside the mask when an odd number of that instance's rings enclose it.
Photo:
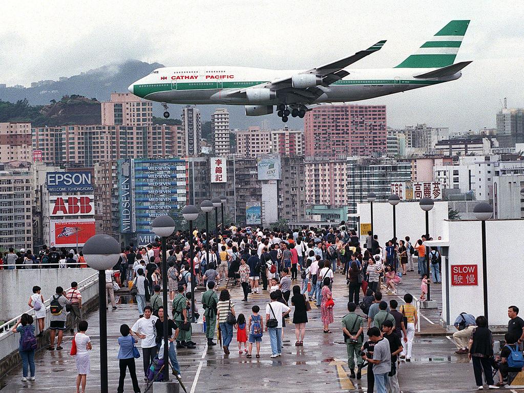
M 96 273 L 91 268 L 83 269 L 20 269 L 3 270 L 0 272 L 0 321 L 25 312 L 29 306 L 27 302 L 32 295 L 32 287 L 42 288 L 44 299 L 55 293 L 57 286 L 70 288 L 71 282 L 80 283 L 82 280 Z

